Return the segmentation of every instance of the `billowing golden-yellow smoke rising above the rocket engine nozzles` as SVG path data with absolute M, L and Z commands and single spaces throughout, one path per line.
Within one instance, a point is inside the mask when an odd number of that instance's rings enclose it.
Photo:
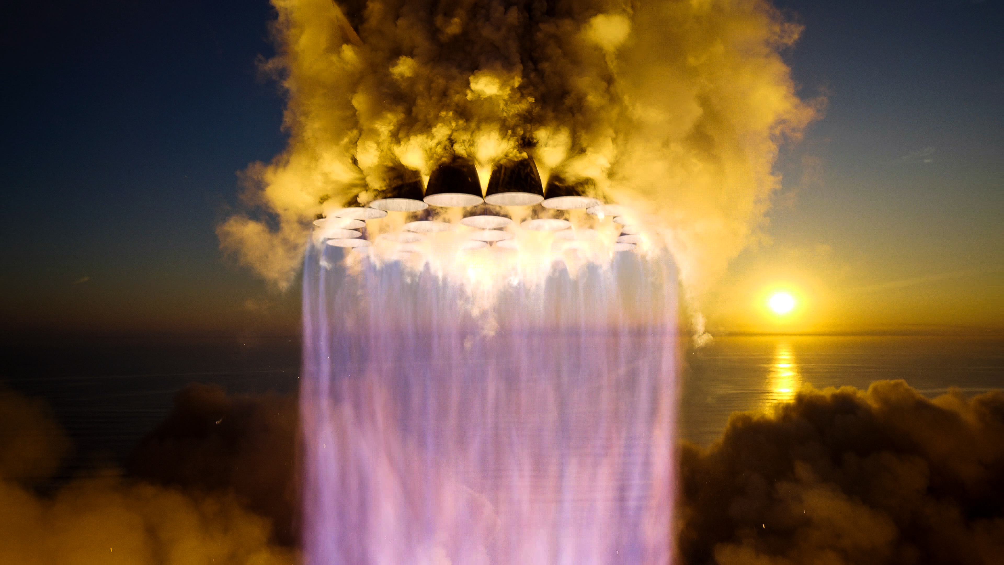
M 246 172 L 222 245 L 284 288 L 322 202 L 361 205 L 391 166 L 532 156 L 643 211 L 700 294 L 779 183 L 813 110 L 765 0 L 273 0 L 287 150 Z

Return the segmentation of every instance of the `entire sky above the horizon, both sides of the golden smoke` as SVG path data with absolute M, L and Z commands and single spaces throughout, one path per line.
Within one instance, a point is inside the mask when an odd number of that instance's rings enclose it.
M 58 5 L 57 5 L 58 4 Z M 5 332 L 295 331 L 220 253 L 236 173 L 285 142 L 265 2 L 21 5 L 0 23 Z M 763 237 L 713 331 L 1004 328 L 1004 9 L 781 2 L 787 53 L 827 111 L 786 149 Z M 802 299 L 765 314 L 770 290 Z

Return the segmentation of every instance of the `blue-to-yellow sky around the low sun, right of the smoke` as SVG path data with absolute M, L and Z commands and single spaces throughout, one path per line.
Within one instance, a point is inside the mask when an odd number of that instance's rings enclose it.
M 783 2 L 789 55 L 825 117 L 779 167 L 768 240 L 733 263 L 712 326 L 760 331 L 1004 327 L 1000 2 Z M 762 293 L 790 285 L 790 323 Z

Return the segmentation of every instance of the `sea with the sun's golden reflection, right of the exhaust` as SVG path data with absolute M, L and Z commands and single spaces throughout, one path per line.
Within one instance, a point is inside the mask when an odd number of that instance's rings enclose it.
M 731 337 L 688 354 L 680 430 L 702 445 L 736 411 L 769 410 L 803 386 L 903 379 L 930 397 L 1004 388 L 1004 338 Z

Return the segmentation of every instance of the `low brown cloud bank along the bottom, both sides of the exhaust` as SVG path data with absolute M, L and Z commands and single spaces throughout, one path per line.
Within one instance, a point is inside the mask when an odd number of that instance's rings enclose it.
M 0 563 L 296 563 L 297 438 L 294 398 L 192 385 L 126 478 L 39 495 L 68 442 L 44 403 L 0 391 Z M 680 467 L 677 563 L 1004 556 L 1004 391 L 807 389 L 681 445 Z

